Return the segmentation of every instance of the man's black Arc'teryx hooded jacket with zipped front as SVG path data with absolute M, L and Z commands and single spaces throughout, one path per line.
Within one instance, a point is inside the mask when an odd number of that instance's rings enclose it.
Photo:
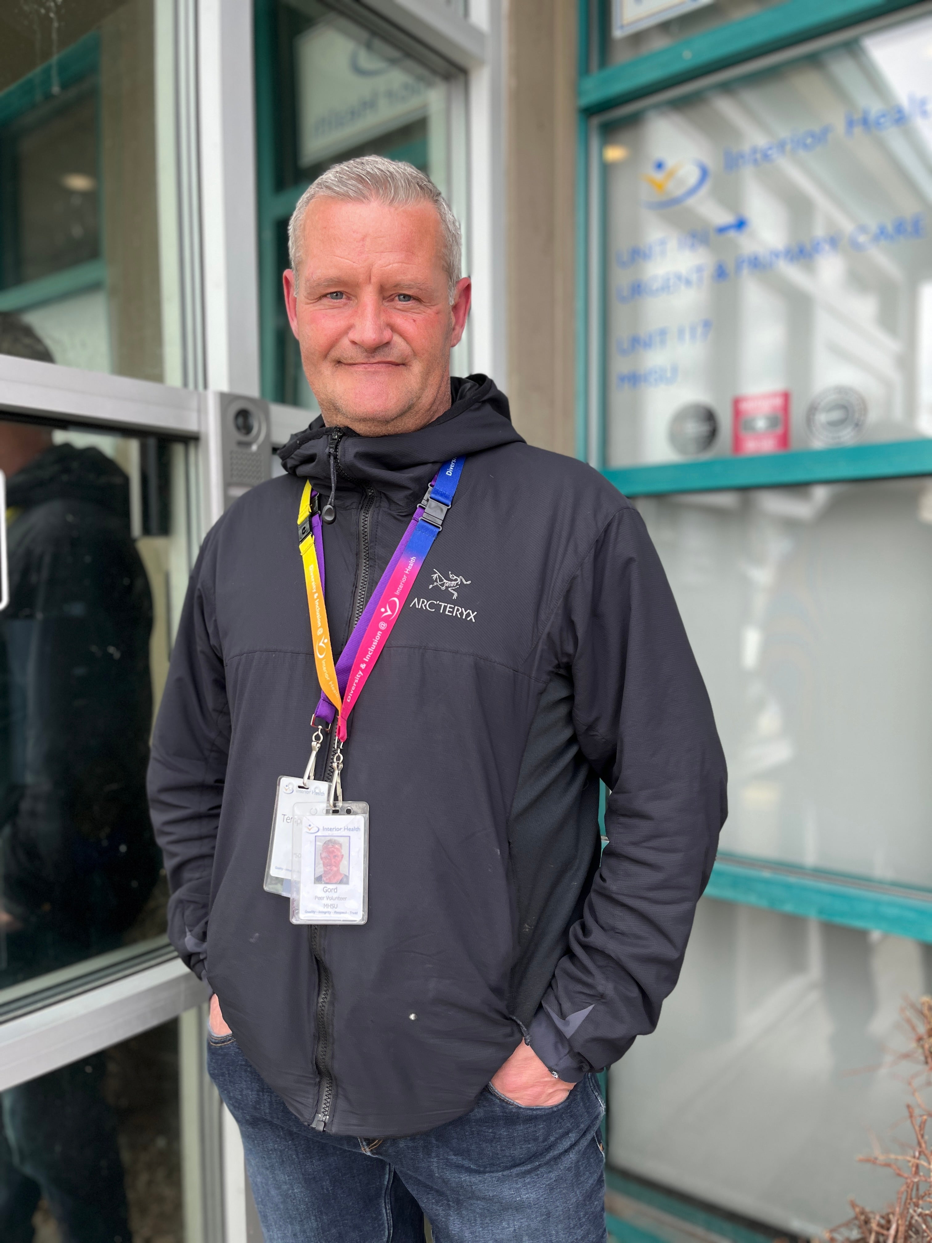
M 153 742 L 174 942 L 266 1081 L 337 1134 L 465 1114 L 524 1029 L 564 1078 L 621 1057 L 676 983 L 726 814 L 708 699 L 640 516 L 528 446 L 491 380 L 454 380 L 452 398 L 410 434 L 318 420 L 282 450 L 287 476 L 216 523 Z M 296 520 L 304 479 L 329 492 L 332 443 L 337 651 L 431 475 L 466 465 L 350 717 L 368 924 L 296 927 L 262 878 L 276 781 L 303 772 L 319 694 Z

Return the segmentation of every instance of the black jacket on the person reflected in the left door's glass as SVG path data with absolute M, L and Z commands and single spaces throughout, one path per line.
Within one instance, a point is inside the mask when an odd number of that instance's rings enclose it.
M 98 449 L 47 449 L 10 476 L 6 501 L 0 902 L 22 926 L 19 951 L 48 953 L 34 963 L 47 970 L 106 947 L 159 874 L 145 803 L 152 598 L 129 480 Z

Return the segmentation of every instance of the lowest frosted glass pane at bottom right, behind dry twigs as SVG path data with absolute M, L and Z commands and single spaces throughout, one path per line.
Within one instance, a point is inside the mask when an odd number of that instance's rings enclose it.
M 906 1139 L 905 994 L 930 950 L 703 899 L 654 1035 L 609 1073 L 609 1162 L 777 1229 L 816 1238 L 882 1208 Z

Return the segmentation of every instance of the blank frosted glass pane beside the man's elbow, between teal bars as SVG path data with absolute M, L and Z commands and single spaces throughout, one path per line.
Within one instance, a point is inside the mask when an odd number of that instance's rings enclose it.
M 728 759 L 722 849 L 932 886 L 932 481 L 637 507 Z

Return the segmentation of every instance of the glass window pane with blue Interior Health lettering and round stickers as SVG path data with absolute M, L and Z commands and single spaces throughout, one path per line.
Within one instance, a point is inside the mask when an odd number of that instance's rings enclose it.
M 604 128 L 609 465 L 932 434 L 930 47 L 923 17 Z

